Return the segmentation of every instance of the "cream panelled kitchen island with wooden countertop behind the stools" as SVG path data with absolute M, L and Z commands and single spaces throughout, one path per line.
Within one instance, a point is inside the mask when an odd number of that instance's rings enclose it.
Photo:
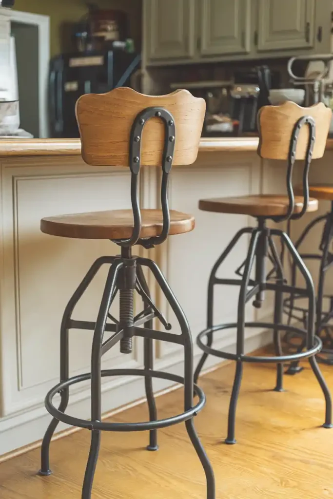
M 277 162 L 262 161 L 256 151 L 258 138 L 202 139 L 198 159 L 192 166 L 175 167 L 170 182 L 170 207 L 196 217 L 196 229 L 170 237 L 156 250 L 142 250 L 161 266 L 188 316 L 193 339 L 206 325 L 206 291 L 209 272 L 236 231 L 253 223 L 242 215 L 200 212 L 200 198 L 260 193 L 284 193 L 286 169 Z M 333 140 L 328 140 L 324 158 L 314 162 L 312 180 L 329 182 Z M 80 157 L 79 140 L 0 140 L 1 259 L 0 259 L 0 460 L 1 455 L 31 444 L 43 436 L 50 416 L 43 406 L 48 389 L 58 381 L 59 327 L 64 307 L 88 267 L 102 254 L 116 254 L 108 241 L 81 241 L 50 237 L 39 231 L 42 217 L 130 208 L 130 174 L 127 168 L 90 167 Z M 296 180 L 300 172 L 296 171 Z M 158 207 L 160 171 L 143 167 L 140 179 L 142 208 Z M 321 203 L 321 210 L 326 204 Z M 306 215 L 296 232 L 311 219 Z M 296 225 L 296 224 L 295 224 Z M 316 241 L 315 247 L 318 247 Z M 220 270 L 232 276 L 244 259 L 244 237 Z M 105 281 L 100 272 L 78 304 L 74 318 L 94 320 Z M 156 304 L 173 323 L 172 312 L 155 292 Z M 189 285 L 191 283 L 191 285 Z M 189 292 L 189 289 L 192 291 Z M 237 310 L 236 288 L 221 287 L 216 321 L 232 322 Z M 136 300 L 139 310 L 140 300 Z M 116 313 L 117 302 L 114 304 Z M 251 305 L 248 320 L 271 319 L 272 300 L 262 309 Z M 158 324 L 156 323 L 156 327 Z M 171 331 L 173 332 L 173 331 Z M 178 332 L 174 330 L 174 332 Z M 248 332 L 246 350 L 270 341 L 262 330 Z M 234 331 L 220 333 L 216 345 L 232 350 Z M 91 332 L 70 333 L 71 375 L 89 371 Z M 195 362 L 201 351 L 195 347 Z M 156 344 L 156 369 L 182 373 L 183 352 L 174 344 Z M 141 367 L 143 347 L 136 341 L 133 354 L 123 356 L 117 348 L 103 357 L 103 368 Z M 205 367 L 218 359 L 209 357 Z M 156 381 L 155 390 L 168 388 Z M 69 411 L 89 414 L 89 386 L 73 389 Z M 144 396 L 142 380 L 108 379 L 103 384 L 103 411 L 129 404 Z M 64 426 L 59 425 L 59 429 Z M 4 459 L 4 458 L 3 458 Z

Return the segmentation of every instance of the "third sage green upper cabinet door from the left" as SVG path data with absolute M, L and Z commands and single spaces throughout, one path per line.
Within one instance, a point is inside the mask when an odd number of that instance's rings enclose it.
M 259 0 L 258 50 L 314 46 L 315 0 Z

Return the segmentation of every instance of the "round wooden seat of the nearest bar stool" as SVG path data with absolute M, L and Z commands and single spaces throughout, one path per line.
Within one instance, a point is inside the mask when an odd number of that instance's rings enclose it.
M 140 238 L 159 236 L 163 227 L 162 210 L 141 210 Z M 170 235 L 194 229 L 192 215 L 170 210 Z M 129 239 L 134 227 L 132 210 L 78 213 L 44 218 L 40 230 L 51 236 L 77 239 Z

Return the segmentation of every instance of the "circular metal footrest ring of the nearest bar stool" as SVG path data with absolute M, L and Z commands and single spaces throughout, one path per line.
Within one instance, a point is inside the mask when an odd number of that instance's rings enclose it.
M 184 385 L 184 378 L 182 376 L 177 376 L 175 374 L 152 371 L 148 369 L 104 369 L 101 371 L 101 376 L 149 376 L 152 378 L 167 379 L 170 381 L 175 381 L 176 383 L 181 383 Z M 66 381 L 58 383 L 54 386 L 45 397 L 45 407 L 47 411 L 59 421 L 66 423 L 71 426 L 78 426 L 79 428 L 87 428 L 88 430 L 104 430 L 109 432 L 139 432 L 146 430 L 155 430 L 159 428 L 166 428 L 167 426 L 175 425 L 183 421 L 191 419 L 196 416 L 199 411 L 206 404 L 206 396 L 204 392 L 199 388 L 199 386 L 193 386 L 194 393 L 199 397 L 199 402 L 191 409 L 178 414 L 177 416 L 171 416 L 170 418 L 160 419 L 157 421 L 146 421 L 140 423 L 106 423 L 101 421 L 87 421 L 85 419 L 75 418 L 69 416 L 64 412 L 59 411 L 52 403 L 53 397 L 64 390 L 65 388 L 79 383 L 81 381 L 86 381 L 91 379 L 91 373 L 80 374 L 78 376 L 73 376 Z

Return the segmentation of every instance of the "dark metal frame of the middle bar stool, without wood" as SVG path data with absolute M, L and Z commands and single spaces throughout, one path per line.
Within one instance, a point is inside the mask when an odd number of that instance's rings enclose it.
M 296 147 L 299 137 L 300 130 L 303 125 L 307 125 L 309 128 L 309 142 L 306 154 L 306 161 L 303 172 L 303 189 L 304 189 L 304 206 L 299 214 L 294 214 L 295 207 L 295 197 L 292 185 L 293 167 L 296 157 Z M 204 351 L 200 362 L 196 368 L 194 381 L 197 383 L 200 372 L 204 366 L 204 363 L 209 354 L 215 355 L 223 359 L 231 359 L 236 361 L 236 372 L 235 379 L 232 388 L 230 406 L 229 406 L 229 416 L 228 416 L 228 435 L 225 439 L 226 444 L 235 444 L 235 421 L 236 421 L 236 408 L 237 401 L 240 392 L 240 386 L 243 374 L 243 362 L 268 362 L 277 364 L 277 382 L 275 391 L 283 391 L 283 363 L 288 361 L 296 361 L 304 358 L 309 358 L 310 365 L 314 371 L 314 374 L 321 386 L 321 389 L 325 396 L 326 401 L 326 412 L 325 412 L 325 422 L 323 426 L 325 428 L 332 428 L 332 399 L 329 388 L 325 382 L 325 379 L 319 369 L 315 355 L 322 348 L 322 341 L 320 338 L 314 334 L 314 323 L 315 323 L 315 289 L 312 276 L 300 257 L 298 251 L 296 250 L 294 244 L 292 243 L 289 236 L 282 230 L 279 229 L 269 229 L 266 225 L 267 219 L 271 218 L 275 222 L 283 222 L 287 220 L 296 220 L 301 218 L 307 211 L 309 204 L 309 183 L 308 175 L 312 158 L 312 151 L 315 142 L 315 121 L 310 116 L 302 117 L 296 123 L 290 142 L 290 150 L 288 156 L 288 170 L 287 170 L 287 191 L 289 197 L 289 207 L 285 216 L 281 217 L 258 217 L 258 226 L 256 228 L 244 228 L 241 229 L 236 236 L 232 239 L 227 248 L 223 251 L 221 256 L 216 261 L 215 265 L 210 274 L 208 283 L 208 299 L 207 299 L 207 328 L 202 331 L 197 337 L 198 346 Z M 243 267 L 239 267 L 236 270 L 238 275 L 241 275 L 241 279 L 220 279 L 216 277 L 216 272 L 220 268 L 221 264 L 228 256 L 228 254 L 233 250 L 233 248 L 238 243 L 239 239 L 243 235 L 251 235 L 249 250 L 247 258 L 245 260 L 244 272 L 241 274 L 240 270 Z M 279 256 L 277 247 L 274 243 L 273 236 L 280 239 L 283 247 L 286 247 L 291 254 L 294 264 L 301 271 L 305 282 L 305 288 L 296 288 L 293 286 L 288 286 L 284 279 L 283 264 Z M 276 270 L 276 282 L 268 282 L 268 276 L 266 274 L 266 258 L 269 255 L 270 259 L 274 263 Z M 255 279 L 251 279 L 251 271 L 255 265 Z M 270 274 L 271 275 L 271 272 Z M 216 284 L 227 284 L 227 285 L 239 285 L 240 294 L 238 301 L 238 313 L 237 322 L 232 324 L 213 324 L 213 304 L 214 304 L 214 286 Z M 248 287 L 252 286 L 249 290 Z M 255 296 L 253 305 L 256 308 L 260 308 L 264 300 L 264 293 L 266 290 L 275 291 L 275 310 L 274 310 L 274 323 L 263 323 L 263 322 L 245 322 L 245 305 L 246 303 Z M 282 323 L 283 314 L 283 293 L 284 292 L 295 292 L 298 295 L 305 296 L 308 298 L 309 312 L 308 312 L 308 327 L 307 329 L 297 328 L 291 325 L 285 325 Z M 244 354 L 244 339 L 245 339 L 245 328 L 246 327 L 262 327 L 273 329 L 273 339 L 276 355 L 272 357 L 256 357 Z M 236 354 L 231 354 L 216 350 L 212 348 L 213 334 L 216 331 L 237 328 L 237 343 L 236 343 Z M 288 331 L 298 336 L 304 337 L 306 341 L 307 350 L 305 352 L 298 352 L 290 355 L 283 355 L 280 331 Z M 207 344 L 202 342 L 202 338 L 207 337 Z

